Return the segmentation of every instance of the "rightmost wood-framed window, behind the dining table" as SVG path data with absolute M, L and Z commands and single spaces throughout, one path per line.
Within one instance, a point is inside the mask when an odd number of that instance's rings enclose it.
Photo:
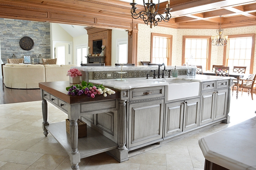
M 234 66 L 247 66 L 246 73 L 253 73 L 255 34 L 228 36 L 224 48 L 224 65 L 233 71 Z

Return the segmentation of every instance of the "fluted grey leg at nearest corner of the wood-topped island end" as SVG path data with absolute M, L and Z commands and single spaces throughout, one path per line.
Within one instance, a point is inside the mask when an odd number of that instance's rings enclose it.
M 71 139 L 71 154 L 69 155 L 71 168 L 79 170 L 78 163 L 80 162 L 80 153 L 78 152 L 78 123 L 77 120 L 69 120 L 70 139 Z

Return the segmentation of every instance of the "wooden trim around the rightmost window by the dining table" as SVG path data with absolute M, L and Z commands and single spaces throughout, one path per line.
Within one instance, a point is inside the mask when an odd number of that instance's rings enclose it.
M 242 35 L 231 35 L 228 38 L 242 38 L 242 37 L 253 37 L 252 40 L 252 52 L 251 52 L 251 63 L 250 63 L 250 74 L 253 74 L 253 61 L 254 61 L 254 48 L 255 48 L 255 34 L 242 34 Z M 227 63 L 227 51 L 228 51 L 228 44 L 224 47 L 223 50 L 223 65 L 226 66 Z

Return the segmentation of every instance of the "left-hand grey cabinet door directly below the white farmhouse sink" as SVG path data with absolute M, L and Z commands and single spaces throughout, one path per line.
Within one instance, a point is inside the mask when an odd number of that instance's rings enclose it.
M 164 137 L 182 132 L 183 112 L 183 102 L 173 102 L 166 104 Z

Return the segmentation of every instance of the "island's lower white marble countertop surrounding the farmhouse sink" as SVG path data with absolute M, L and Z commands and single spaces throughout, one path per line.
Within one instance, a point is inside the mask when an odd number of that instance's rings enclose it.
M 91 83 L 96 84 L 103 84 L 106 87 L 115 88 L 118 90 L 125 90 L 131 88 L 139 88 L 139 87 L 154 87 L 154 86 L 161 86 L 161 85 L 168 85 L 167 82 L 164 80 L 187 80 L 187 81 L 194 81 L 194 82 L 206 82 L 206 81 L 215 81 L 215 80 L 227 80 L 231 77 L 222 77 L 222 76 L 208 76 L 208 75 L 195 75 L 195 76 L 187 76 L 187 75 L 180 75 L 177 78 L 155 78 L 149 77 L 146 79 L 145 77 L 139 78 L 123 78 L 125 81 L 120 81 L 118 79 L 100 79 L 100 80 L 89 80 Z M 162 82 L 160 82 L 160 81 Z

